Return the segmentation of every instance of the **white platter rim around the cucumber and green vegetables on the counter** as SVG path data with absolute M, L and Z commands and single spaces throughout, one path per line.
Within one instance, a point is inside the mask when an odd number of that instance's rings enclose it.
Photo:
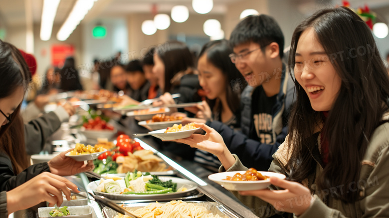
M 120 195 L 120 194 L 108 194 L 103 192 L 97 192 L 96 188 L 100 184 L 100 180 L 96 180 L 88 184 L 87 189 L 92 190 L 96 195 L 107 197 L 114 201 L 126 201 L 126 200 L 163 200 L 170 198 L 179 198 L 183 196 L 188 196 L 193 190 L 197 189 L 197 184 L 177 177 L 159 177 L 161 181 L 172 180 L 173 183 L 177 183 L 177 189 L 182 187 L 187 188 L 183 192 L 167 193 L 167 194 L 156 194 L 156 195 Z

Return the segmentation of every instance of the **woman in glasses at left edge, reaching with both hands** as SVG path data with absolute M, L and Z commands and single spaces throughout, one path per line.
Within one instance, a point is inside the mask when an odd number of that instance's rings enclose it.
M 60 205 L 62 192 L 68 199 L 68 188 L 78 192 L 74 184 L 60 176 L 92 170 L 93 162 L 76 162 L 61 153 L 48 163 L 28 167 L 20 105 L 31 77 L 19 50 L 1 40 L 0 78 L 0 215 L 7 216 L 43 201 L 48 201 L 50 206 Z M 35 176 L 37 179 L 32 179 Z M 27 181 L 27 185 L 12 190 Z M 24 202 L 28 203 L 24 205 Z

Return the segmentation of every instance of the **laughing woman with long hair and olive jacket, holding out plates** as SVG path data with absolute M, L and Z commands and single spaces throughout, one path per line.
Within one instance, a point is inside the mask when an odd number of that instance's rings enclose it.
M 259 217 L 389 217 L 389 76 L 370 28 L 347 7 L 319 10 L 294 31 L 289 63 L 297 99 L 269 168 L 288 180 L 234 194 Z M 205 136 L 177 141 L 218 156 L 220 171 L 247 169 L 197 126 Z

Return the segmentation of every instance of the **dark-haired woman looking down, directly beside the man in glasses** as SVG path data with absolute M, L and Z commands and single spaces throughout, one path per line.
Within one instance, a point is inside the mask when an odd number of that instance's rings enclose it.
M 232 52 L 225 39 L 210 41 L 202 47 L 198 55 L 197 70 L 206 101 L 190 111 L 196 114 L 196 118 L 204 119 L 204 123 L 205 120 L 217 120 L 232 129 L 238 129 L 240 108 L 236 102 L 240 102 L 240 93 L 244 87 L 232 87 L 231 84 L 234 84 L 232 81 L 244 81 L 244 78 L 230 61 L 229 54 Z M 195 152 L 194 161 L 215 172 L 220 166 L 216 156 L 202 150 Z

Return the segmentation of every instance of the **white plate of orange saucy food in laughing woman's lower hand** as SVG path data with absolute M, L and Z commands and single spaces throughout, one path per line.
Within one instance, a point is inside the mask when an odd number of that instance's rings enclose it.
M 270 186 L 270 177 L 278 177 L 280 179 L 286 178 L 283 174 L 256 171 L 254 168 L 250 168 L 247 171 L 211 174 L 208 176 L 208 179 L 229 191 L 253 191 L 266 189 Z

